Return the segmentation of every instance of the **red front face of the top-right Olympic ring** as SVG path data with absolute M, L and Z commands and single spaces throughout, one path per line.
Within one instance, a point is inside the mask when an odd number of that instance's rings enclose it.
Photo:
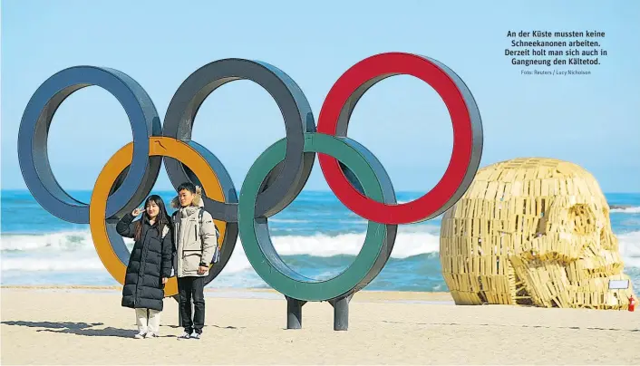
M 344 72 L 329 91 L 320 111 L 317 132 L 335 135 L 341 112 L 354 92 L 366 82 L 385 74 L 409 74 L 427 82 L 440 94 L 449 110 L 453 124 L 453 151 L 449 166 L 438 184 L 412 202 L 386 205 L 365 197 L 355 189 L 335 158 L 320 153 L 318 159 L 329 188 L 355 214 L 384 224 L 414 223 L 431 218 L 451 200 L 471 164 L 473 131 L 470 110 L 450 75 L 431 60 L 410 53 L 381 53 L 364 59 Z

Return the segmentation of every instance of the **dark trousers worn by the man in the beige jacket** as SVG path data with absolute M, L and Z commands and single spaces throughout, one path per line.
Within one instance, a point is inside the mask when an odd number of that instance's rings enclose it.
M 205 325 L 205 277 L 178 277 L 179 307 L 182 327 L 189 334 L 202 332 Z M 195 312 L 191 320 L 191 298 Z

